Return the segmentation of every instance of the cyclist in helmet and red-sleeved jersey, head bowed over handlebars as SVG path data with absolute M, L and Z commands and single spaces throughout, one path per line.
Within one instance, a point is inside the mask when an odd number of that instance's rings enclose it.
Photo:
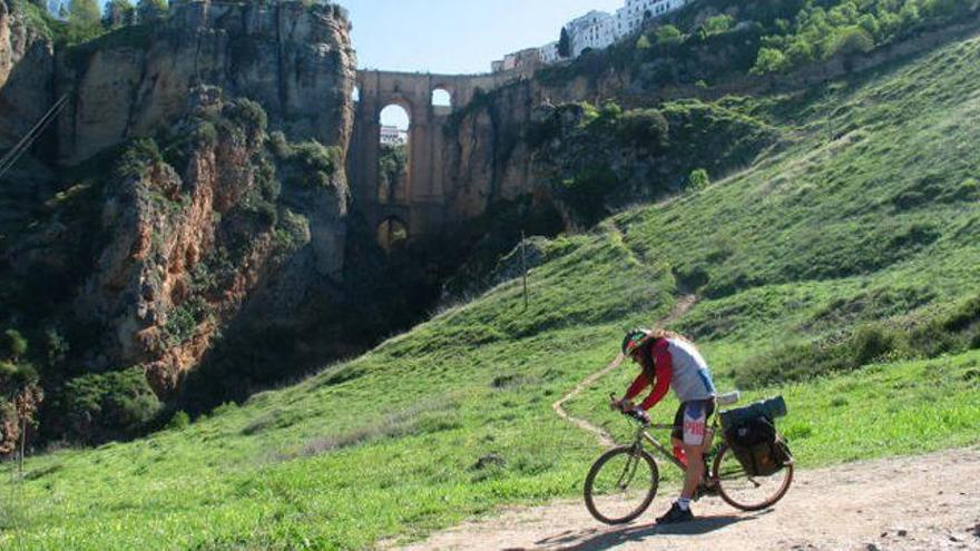
M 673 386 L 680 407 L 674 417 L 672 442 L 674 455 L 687 465 L 687 475 L 680 498 L 658 524 L 694 520 L 690 500 L 705 474 L 704 449 L 708 417 L 715 411 L 715 385 L 707 363 L 694 344 L 683 336 L 664 329 L 631 329 L 623 340 L 623 355 L 640 366 L 640 374 L 612 407 L 649 422 L 647 411 L 656 405 Z M 639 406 L 631 400 L 653 385 L 650 395 Z

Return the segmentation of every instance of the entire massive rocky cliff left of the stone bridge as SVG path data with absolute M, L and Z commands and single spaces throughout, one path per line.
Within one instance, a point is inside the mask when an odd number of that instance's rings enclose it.
M 0 443 L 24 382 L 43 390 L 48 436 L 100 441 L 144 430 L 242 335 L 278 332 L 282 358 L 296 332 L 343 323 L 355 58 L 341 8 L 175 2 L 153 24 L 61 47 L 41 11 L 13 6 L 0 3 L 0 148 L 69 101 L 20 164 L 43 185 L 3 183 L 29 190 L 26 218 L 0 225 L 0 329 L 30 352 L 0 351 Z M 232 364 L 215 376 L 246 390 L 301 368 Z

